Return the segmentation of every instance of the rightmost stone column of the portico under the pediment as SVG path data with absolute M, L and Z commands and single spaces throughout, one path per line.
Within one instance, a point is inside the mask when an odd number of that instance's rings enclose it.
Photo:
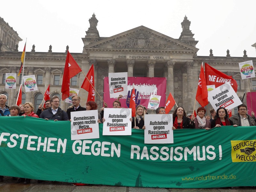
M 192 112 L 195 104 L 196 93 L 194 94 L 194 81 L 193 81 L 193 66 L 194 62 L 188 61 L 186 62 L 187 74 L 188 74 L 188 111 Z M 185 109 L 186 110 L 186 109 Z

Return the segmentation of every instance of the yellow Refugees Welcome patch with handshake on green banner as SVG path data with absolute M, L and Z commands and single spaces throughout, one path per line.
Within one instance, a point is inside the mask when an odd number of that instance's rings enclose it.
M 231 141 L 232 162 L 255 162 L 256 140 Z

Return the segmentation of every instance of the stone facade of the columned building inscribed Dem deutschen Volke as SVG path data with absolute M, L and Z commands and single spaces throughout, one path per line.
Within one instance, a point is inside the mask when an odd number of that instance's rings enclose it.
M 210 50 L 209 56 L 197 56 L 198 49 L 194 34 L 189 30 L 190 21 L 185 16 L 181 23 L 182 32 L 179 39 L 163 35 L 157 31 L 140 26 L 123 33 L 111 36 L 100 37 L 97 30 L 98 20 L 95 15 L 89 19 L 90 27 L 82 38 L 84 49 L 82 53 L 71 53 L 83 72 L 86 74 L 94 65 L 95 89 L 103 97 L 103 78 L 112 72 L 128 72 L 128 76 L 167 77 L 167 90 L 171 92 L 176 103 L 183 106 L 187 112 L 192 112 L 195 103 L 198 76 L 202 62 L 233 76 L 240 81 L 238 96 L 243 97 L 244 90 L 250 91 L 248 80 L 241 80 L 238 70 L 238 62 L 253 60 L 244 53 L 244 57 L 232 57 L 229 51 L 225 57 L 215 57 L 214 51 Z M 27 48 L 28 49 L 28 48 Z M 31 52 L 26 52 L 24 75 L 36 75 L 42 77 L 42 84 L 38 85 L 37 92 L 24 92 L 26 101 L 33 101 L 36 107 L 39 100 L 50 84 L 50 96 L 61 95 L 61 82 L 65 66 L 66 52 L 52 52 L 49 46 L 48 52 L 36 52 L 33 45 Z M 3 51 L 0 53 L 0 80 L 3 80 L 5 73 L 18 73 L 20 68 L 21 52 Z M 84 75 L 78 74 L 73 79 L 70 87 L 79 89 L 84 81 Z M 250 79 L 251 84 L 256 79 Z M 19 80 L 17 81 L 20 83 Z M 18 89 L 5 90 L 3 82 L 0 82 L 0 93 L 7 92 L 11 95 L 10 103 L 16 102 Z M 256 84 L 255 84 L 256 88 Z M 87 92 L 83 89 L 79 92 L 84 106 L 87 100 Z M 96 102 L 102 106 L 102 101 L 96 94 Z M 60 107 L 66 110 L 68 104 L 61 101 Z M 198 105 L 196 105 L 198 107 Z

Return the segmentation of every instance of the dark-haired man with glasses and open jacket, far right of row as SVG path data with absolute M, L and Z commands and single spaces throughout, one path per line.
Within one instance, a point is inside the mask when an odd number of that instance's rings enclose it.
M 237 109 L 238 113 L 230 117 L 234 124 L 237 126 L 255 126 L 255 121 L 247 114 L 247 106 L 245 104 L 239 105 Z

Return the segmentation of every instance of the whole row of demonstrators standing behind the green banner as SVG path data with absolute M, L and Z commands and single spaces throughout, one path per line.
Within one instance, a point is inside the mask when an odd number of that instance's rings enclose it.
M 122 95 L 119 95 L 117 100 L 113 102 L 113 108 L 121 108 L 121 102 L 119 99 L 122 98 Z M 4 94 L 0 95 L 0 116 L 31 116 L 35 118 L 43 118 L 45 120 L 54 120 L 54 121 L 71 121 L 71 112 L 75 111 L 85 111 L 85 110 L 97 110 L 98 105 L 94 101 L 88 101 L 85 108 L 80 106 L 80 97 L 75 95 L 72 97 L 72 106 L 70 106 L 67 111 L 62 110 L 60 105 L 60 99 L 58 96 L 53 96 L 51 100 L 45 101 L 45 108 L 42 107 L 42 104 L 39 105 L 36 113 L 34 113 L 34 106 L 31 102 L 26 102 L 25 104 L 12 105 L 8 107 L 6 105 L 7 96 Z M 103 123 L 104 119 L 104 108 L 107 108 L 108 105 L 105 103 L 104 107 L 101 108 L 99 113 L 99 123 Z M 210 130 L 215 127 L 233 125 L 237 126 L 255 126 L 256 119 L 254 112 L 251 112 L 251 116 L 247 113 L 247 106 L 241 104 L 237 107 L 238 113 L 229 118 L 228 111 L 220 107 L 215 111 L 214 109 L 210 110 L 211 116 L 205 116 L 206 110 L 204 107 L 199 107 L 196 111 L 197 115 L 188 114 L 186 115 L 185 109 L 182 107 L 177 107 L 173 114 L 173 126 L 172 130 L 176 129 L 205 129 Z M 156 114 L 165 114 L 165 108 L 159 107 L 156 109 Z M 132 122 L 132 128 L 134 129 L 146 129 L 144 124 L 144 116 L 147 113 L 147 108 L 138 105 L 136 107 L 135 117 L 130 118 Z M 17 179 L 17 178 L 13 178 Z M 0 176 L 0 181 L 3 181 L 3 176 Z M 27 178 L 18 178 L 17 183 L 23 182 L 24 184 L 30 183 L 30 179 Z M 38 182 L 42 182 L 38 180 Z

